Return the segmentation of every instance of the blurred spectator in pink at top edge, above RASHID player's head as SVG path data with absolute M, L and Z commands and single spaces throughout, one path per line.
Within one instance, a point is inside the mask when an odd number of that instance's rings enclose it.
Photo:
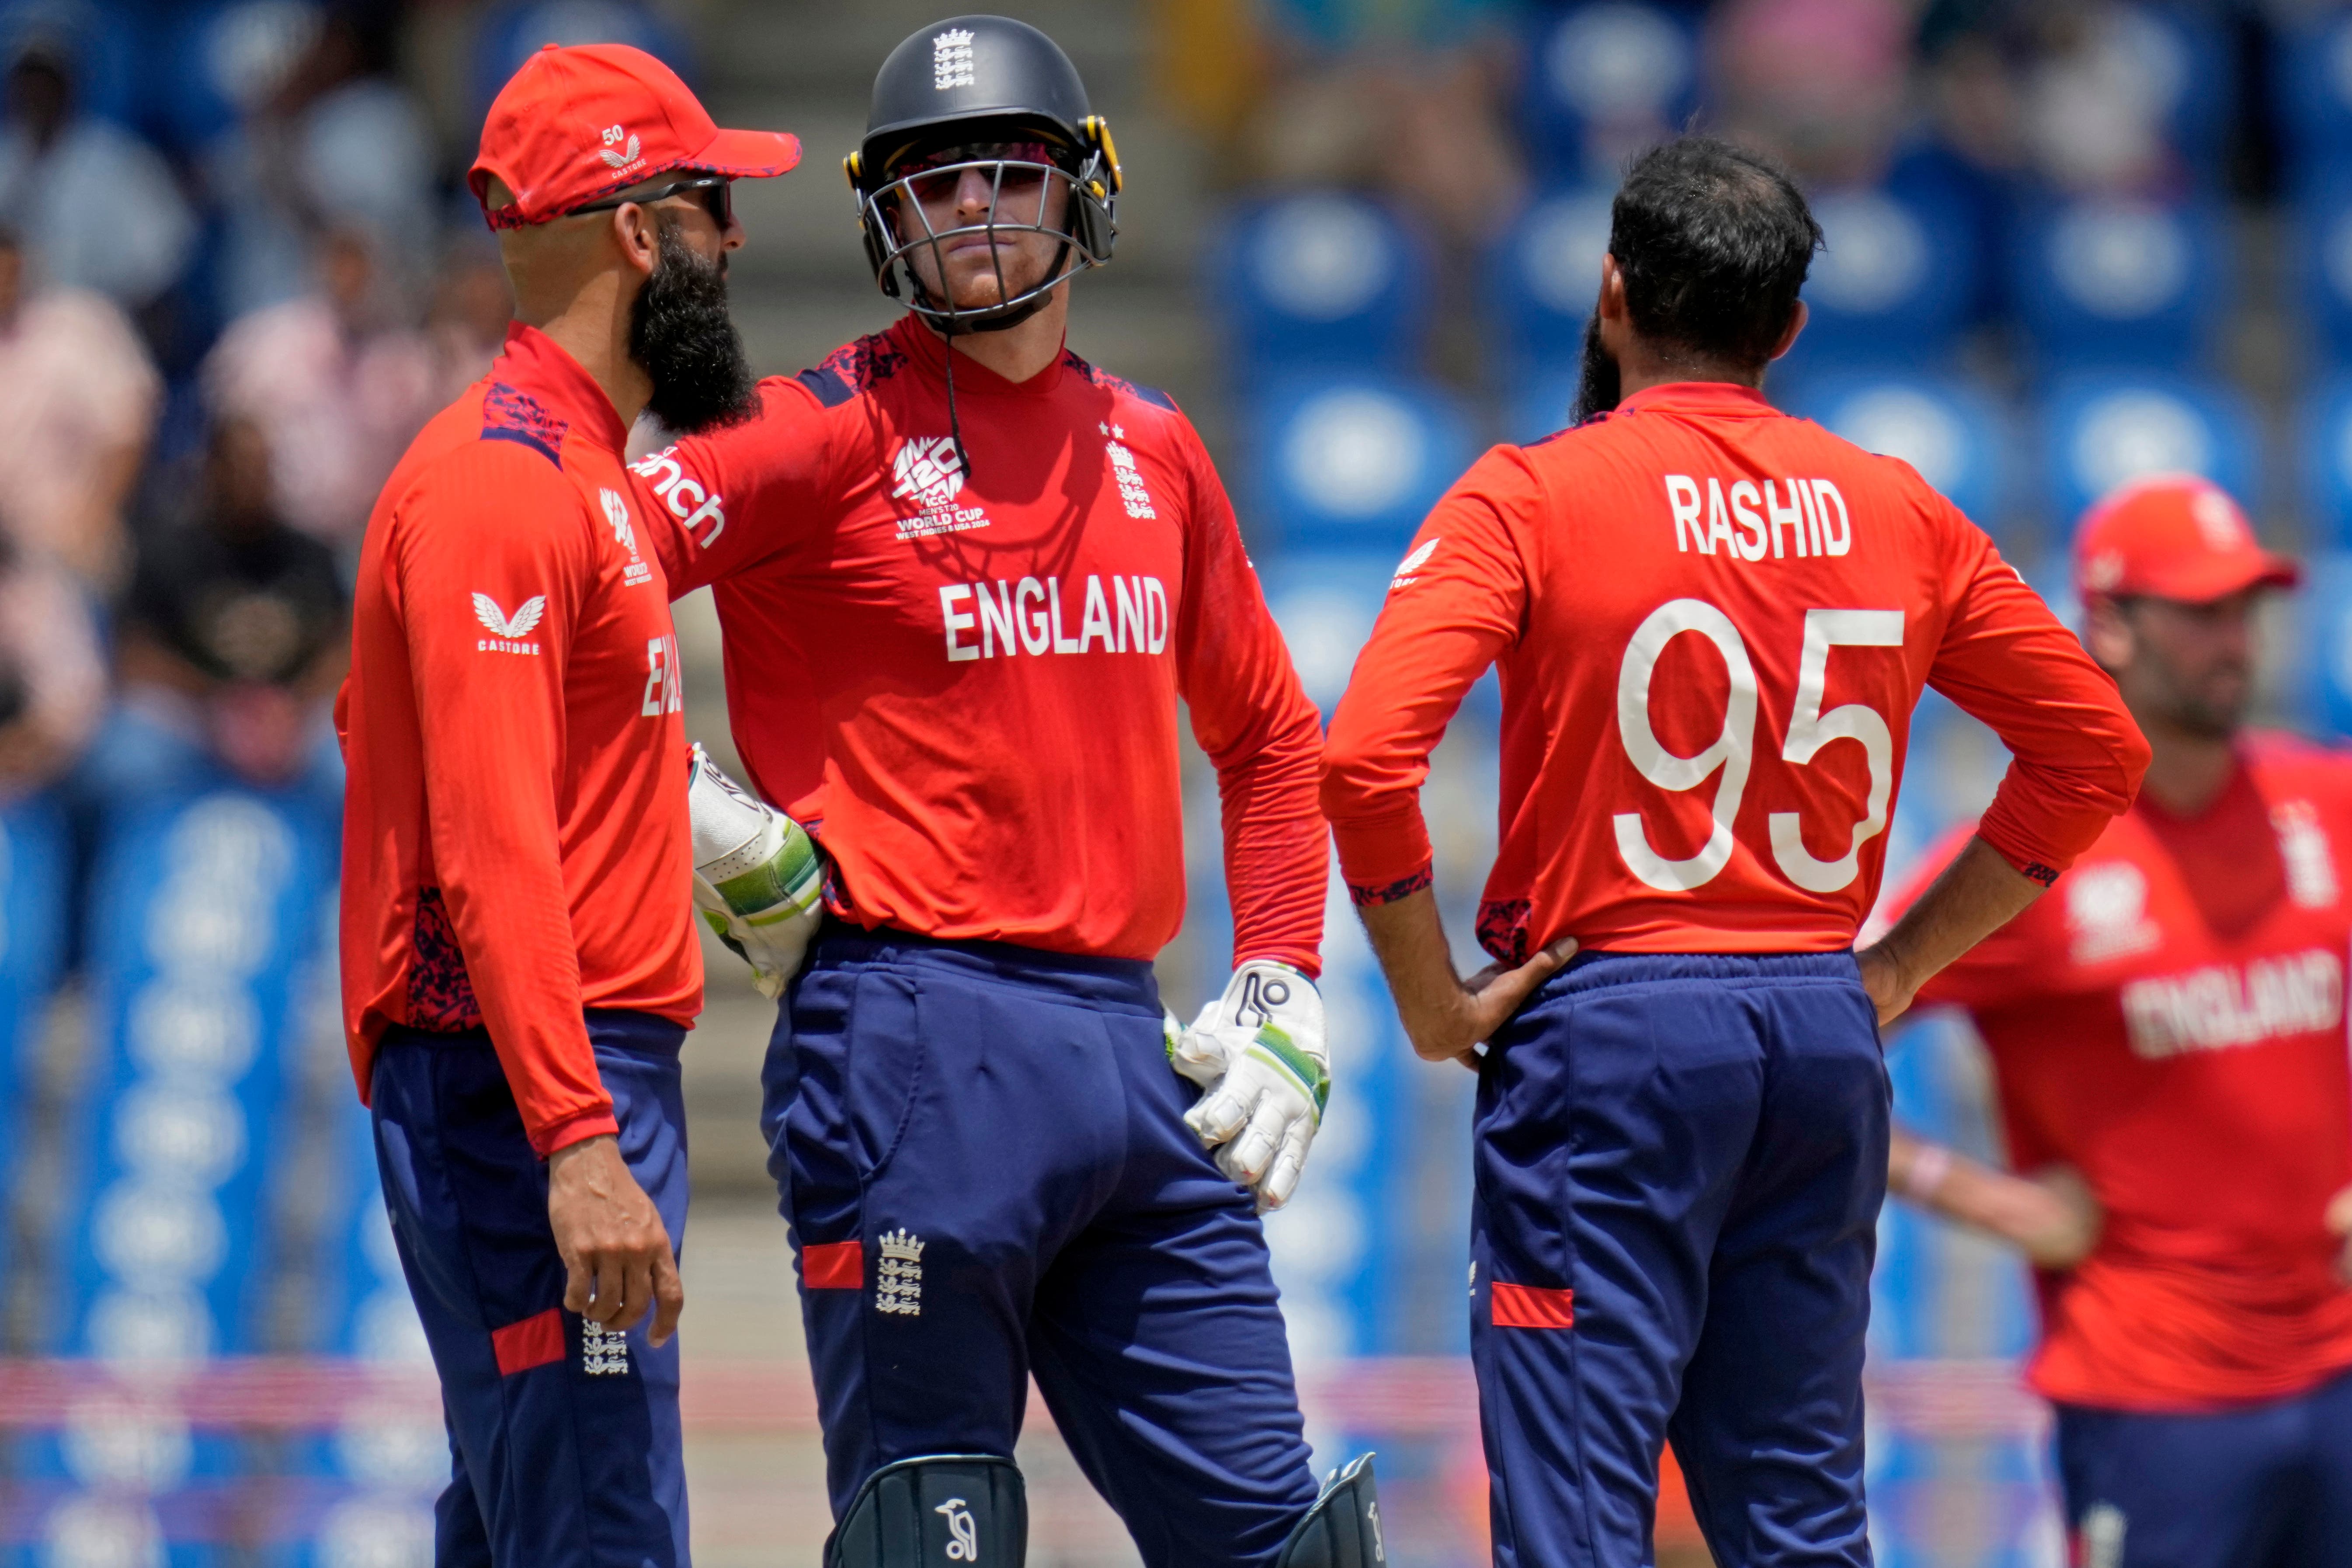
M 1809 183 L 1858 186 L 1884 172 L 1907 120 L 1907 5 L 1731 0 L 1710 42 L 1733 141 Z

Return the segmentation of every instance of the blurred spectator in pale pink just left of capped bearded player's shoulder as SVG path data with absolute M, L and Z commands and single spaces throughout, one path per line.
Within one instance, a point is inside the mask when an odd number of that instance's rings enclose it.
M 280 515 L 346 550 L 445 402 L 433 346 L 400 322 L 397 292 L 358 228 L 320 244 L 310 294 L 233 322 L 202 381 L 216 421 L 252 421 L 266 437 Z

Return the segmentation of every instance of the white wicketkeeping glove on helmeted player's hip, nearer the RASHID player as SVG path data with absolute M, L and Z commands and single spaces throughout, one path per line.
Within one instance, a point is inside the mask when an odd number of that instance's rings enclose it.
M 1289 1204 L 1331 1098 L 1315 983 L 1289 964 L 1242 964 L 1171 1041 L 1169 1063 L 1204 1091 L 1183 1119 L 1216 1150 L 1216 1168 L 1256 1187 L 1258 1211 Z

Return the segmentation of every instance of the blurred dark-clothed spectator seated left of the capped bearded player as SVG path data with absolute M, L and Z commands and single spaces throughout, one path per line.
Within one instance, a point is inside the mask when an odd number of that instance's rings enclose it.
M 139 550 L 122 604 L 122 708 L 94 757 L 101 792 L 183 778 L 207 755 L 259 785 L 313 773 L 348 614 L 334 550 L 270 501 L 263 433 L 214 423 L 191 515 Z

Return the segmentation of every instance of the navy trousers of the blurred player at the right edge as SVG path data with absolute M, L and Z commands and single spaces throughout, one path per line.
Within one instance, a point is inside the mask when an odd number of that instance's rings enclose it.
M 2058 1406 L 2079 1568 L 2352 1568 L 2352 1373 L 2201 1415 Z

